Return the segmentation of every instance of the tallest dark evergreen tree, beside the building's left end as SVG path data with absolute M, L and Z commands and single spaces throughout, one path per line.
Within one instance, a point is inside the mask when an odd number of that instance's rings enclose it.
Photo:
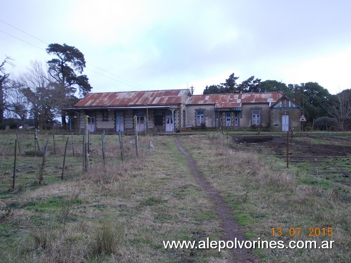
M 50 44 L 47 48 L 49 55 L 55 55 L 56 58 L 49 60 L 49 73 L 55 79 L 55 89 L 61 102 L 61 109 L 72 105 L 72 96 L 74 97 L 77 88 L 79 95 L 84 96 L 92 89 L 89 84 L 87 75 L 82 75 L 85 68 L 85 59 L 82 52 L 75 47 Z M 81 75 L 80 75 L 81 74 Z M 67 127 L 66 112 L 61 110 L 61 119 L 63 128 Z

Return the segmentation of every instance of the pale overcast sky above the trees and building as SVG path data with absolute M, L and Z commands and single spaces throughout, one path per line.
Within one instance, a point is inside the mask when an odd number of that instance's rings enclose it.
M 0 0 L 0 59 L 13 76 L 53 58 L 85 56 L 92 92 L 184 89 L 254 75 L 351 88 L 350 0 Z

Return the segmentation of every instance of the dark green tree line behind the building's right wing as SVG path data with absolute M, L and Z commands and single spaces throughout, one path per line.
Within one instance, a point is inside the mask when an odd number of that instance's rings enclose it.
M 238 76 L 231 73 L 225 82 L 206 86 L 203 94 L 281 92 L 298 102 L 310 126 L 325 129 L 351 129 L 351 89 L 331 95 L 317 82 L 288 84 L 251 76 L 238 83 Z M 328 125 L 329 122 L 329 125 Z

